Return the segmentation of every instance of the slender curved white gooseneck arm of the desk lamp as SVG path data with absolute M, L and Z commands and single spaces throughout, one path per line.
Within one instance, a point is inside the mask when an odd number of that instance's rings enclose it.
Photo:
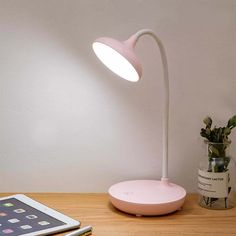
M 150 29 L 143 29 L 138 31 L 136 36 L 136 41 L 142 35 L 152 36 L 159 49 L 162 59 L 163 66 L 163 83 L 164 83 L 164 99 L 163 99 L 163 157 L 162 157 L 162 178 L 168 178 L 168 126 L 169 126 L 169 74 L 168 74 L 168 64 L 167 57 L 165 53 L 165 48 L 161 40 L 156 36 L 156 34 Z

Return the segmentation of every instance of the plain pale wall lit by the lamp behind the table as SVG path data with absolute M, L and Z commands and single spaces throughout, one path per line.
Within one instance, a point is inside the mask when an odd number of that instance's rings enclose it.
M 170 73 L 169 176 L 196 191 L 211 115 L 236 114 L 234 0 L 0 0 L 0 191 L 103 192 L 161 177 L 162 68 L 148 36 L 139 83 L 95 58 L 100 36 L 152 28 Z M 236 157 L 236 130 L 231 135 Z

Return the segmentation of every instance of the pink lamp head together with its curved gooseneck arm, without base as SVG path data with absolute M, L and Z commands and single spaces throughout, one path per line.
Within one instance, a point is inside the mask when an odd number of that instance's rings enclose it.
M 134 53 L 138 39 L 143 35 L 152 36 L 159 49 L 163 65 L 164 99 L 163 99 L 163 158 L 162 179 L 168 179 L 168 121 L 169 121 L 169 78 L 167 57 L 161 40 L 150 29 L 142 29 L 124 42 L 112 38 L 99 38 L 93 43 L 93 50 L 97 57 L 111 71 L 123 79 L 136 82 L 142 75 L 142 67 Z

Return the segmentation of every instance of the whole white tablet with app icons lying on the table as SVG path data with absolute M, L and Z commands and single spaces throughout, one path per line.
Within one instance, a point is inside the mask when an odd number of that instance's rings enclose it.
M 48 235 L 79 226 L 79 221 L 23 194 L 0 198 L 0 236 Z

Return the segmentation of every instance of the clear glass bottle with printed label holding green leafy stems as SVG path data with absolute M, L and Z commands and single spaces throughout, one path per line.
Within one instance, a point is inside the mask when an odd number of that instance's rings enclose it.
M 199 204 L 210 209 L 231 208 L 234 205 L 235 162 L 229 154 L 231 140 L 228 136 L 236 127 L 236 115 L 224 127 L 212 127 L 211 117 L 203 122 L 205 128 L 200 135 L 205 138 L 207 158 L 201 161 L 198 171 Z

